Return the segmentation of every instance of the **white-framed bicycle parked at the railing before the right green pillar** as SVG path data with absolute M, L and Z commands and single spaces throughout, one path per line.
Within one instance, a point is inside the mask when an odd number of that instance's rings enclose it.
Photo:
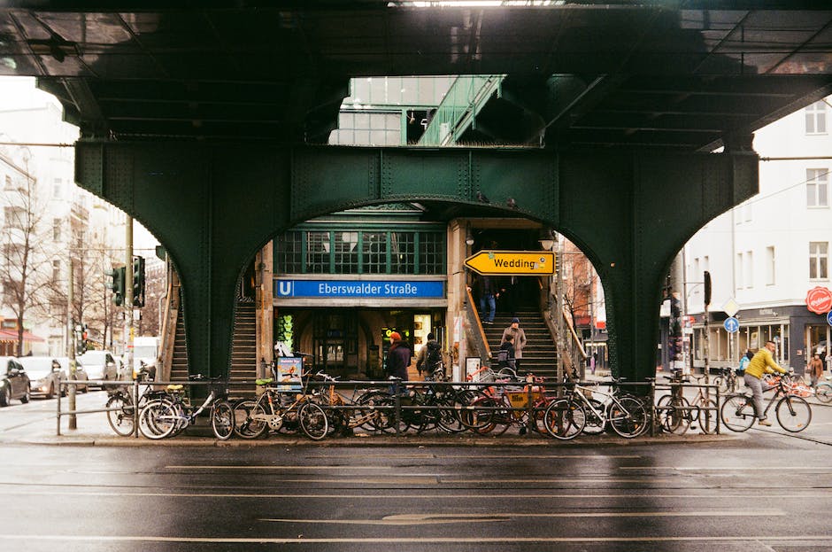
M 600 383 L 566 384 L 565 398 L 552 400 L 543 414 L 543 426 L 556 439 L 574 439 L 582 432 L 599 433 L 605 427 L 621 437 L 638 437 L 650 424 L 650 416 L 642 400 L 611 389 L 602 391 Z M 600 395 L 604 400 L 595 399 Z M 586 431 L 590 426 L 592 429 Z

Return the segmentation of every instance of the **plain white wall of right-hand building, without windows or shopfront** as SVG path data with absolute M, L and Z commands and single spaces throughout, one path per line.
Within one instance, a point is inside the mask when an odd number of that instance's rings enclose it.
M 832 245 L 832 178 L 826 180 L 826 205 L 807 206 L 806 169 L 832 168 L 828 159 L 832 157 L 832 105 L 826 109 L 826 132 L 807 134 L 805 121 L 806 112 L 800 110 L 756 133 L 754 149 L 761 158 L 759 194 L 707 224 L 684 248 L 686 280 L 702 280 L 702 270 L 707 269 L 703 259 L 708 257 L 713 278 L 710 310 L 721 311 L 728 299 L 735 299 L 741 308 L 741 324 L 743 311 L 746 321 L 752 315 L 760 320 L 768 316 L 772 324 L 782 323 L 784 316 L 789 323 L 789 316 L 812 315 L 805 310 L 806 292 L 817 285 L 829 287 L 832 267 L 824 278 L 809 277 L 809 243 Z M 773 273 L 768 254 L 772 247 Z M 688 313 L 701 314 L 701 286 L 688 287 Z M 805 321 L 795 323 L 792 318 L 791 323 L 800 326 L 790 331 L 795 354 L 782 360 L 802 369 L 805 356 L 797 355 L 805 355 L 801 348 L 806 346 L 801 335 Z M 788 357 L 789 352 L 782 355 Z

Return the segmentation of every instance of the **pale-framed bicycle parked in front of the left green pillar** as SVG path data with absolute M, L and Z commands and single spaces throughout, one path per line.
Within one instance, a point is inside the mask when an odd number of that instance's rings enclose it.
M 190 379 L 199 381 L 204 377 L 192 376 Z M 209 387 L 211 391 L 203 403 L 193 408 L 183 399 L 182 385 L 168 385 L 165 397 L 150 400 L 142 408 L 139 431 L 148 439 L 172 437 L 185 431 L 207 409 L 214 436 L 220 440 L 230 439 L 234 432 L 234 412 L 228 402 L 227 382 L 213 378 Z

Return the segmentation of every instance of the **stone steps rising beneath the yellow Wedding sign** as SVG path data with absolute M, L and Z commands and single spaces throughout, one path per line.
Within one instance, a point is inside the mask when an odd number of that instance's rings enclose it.
M 523 358 L 520 360 L 520 373 L 531 372 L 540 377 L 557 377 L 558 349 L 543 316 L 535 311 L 521 311 L 517 313 L 517 317 L 520 318 L 520 328 L 526 332 L 526 346 L 523 347 Z M 482 326 L 485 337 L 489 341 L 491 355 L 495 359 L 500 349 L 503 330 L 511 324 L 512 316 L 497 315 L 494 317 L 494 324 Z

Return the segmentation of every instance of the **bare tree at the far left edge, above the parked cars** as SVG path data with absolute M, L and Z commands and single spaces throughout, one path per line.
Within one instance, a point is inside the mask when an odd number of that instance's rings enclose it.
M 37 181 L 24 159 L 24 176 L 3 192 L 3 247 L 0 250 L 0 283 L 3 304 L 12 311 L 18 324 L 18 355 L 23 354 L 23 323 L 27 312 L 45 309 L 51 284 L 51 240 L 43 234 L 46 207 L 39 201 Z

